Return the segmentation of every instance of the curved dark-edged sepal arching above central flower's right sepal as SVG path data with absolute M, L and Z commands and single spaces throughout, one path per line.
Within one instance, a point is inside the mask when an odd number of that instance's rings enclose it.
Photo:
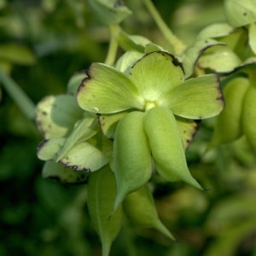
M 198 61 L 203 52 L 215 45 L 224 44 L 210 38 L 199 38 L 195 41 L 195 44 L 185 51 L 183 56 L 183 68 L 186 79 L 194 73 L 196 61 Z

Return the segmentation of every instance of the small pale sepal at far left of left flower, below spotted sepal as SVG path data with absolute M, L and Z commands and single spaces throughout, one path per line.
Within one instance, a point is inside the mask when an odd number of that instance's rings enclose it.
M 65 143 L 64 137 L 57 137 L 44 140 L 38 146 L 38 159 L 40 160 L 54 160 L 56 154 Z

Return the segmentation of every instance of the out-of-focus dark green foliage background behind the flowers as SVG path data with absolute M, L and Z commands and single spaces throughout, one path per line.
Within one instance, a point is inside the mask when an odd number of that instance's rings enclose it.
M 137 0 L 126 32 L 166 44 Z M 157 9 L 185 44 L 212 22 L 224 21 L 223 1 L 157 0 Z M 92 61 L 104 61 L 108 27 L 83 0 L 0 0 L 0 68 L 37 103 L 65 93 L 67 81 Z M 1 84 L 0 84 L 1 85 Z M 41 177 L 37 159 L 43 139 L 0 87 L 0 255 L 101 255 L 86 208 L 86 185 L 64 186 Z M 160 218 L 177 237 L 155 230 L 121 230 L 111 255 L 256 255 L 256 160 L 244 138 L 202 155 L 212 119 L 187 152 L 189 169 L 207 188 L 158 183 Z

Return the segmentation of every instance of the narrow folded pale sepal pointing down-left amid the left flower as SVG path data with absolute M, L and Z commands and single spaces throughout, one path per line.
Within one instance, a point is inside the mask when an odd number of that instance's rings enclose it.
M 56 161 L 61 160 L 67 151 L 79 141 L 87 141 L 90 137 L 96 135 L 96 118 L 89 113 L 84 114 L 84 118 L 77 121 L 74 125 L 73 131 L 67 137 L 61 151 L 58 152 Z

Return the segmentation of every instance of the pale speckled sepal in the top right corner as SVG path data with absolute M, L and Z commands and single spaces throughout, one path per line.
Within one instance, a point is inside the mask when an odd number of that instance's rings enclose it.
M 232 26 L 244 26 L 256 20 L 254 0 L 225 0 L 224 11 Z

